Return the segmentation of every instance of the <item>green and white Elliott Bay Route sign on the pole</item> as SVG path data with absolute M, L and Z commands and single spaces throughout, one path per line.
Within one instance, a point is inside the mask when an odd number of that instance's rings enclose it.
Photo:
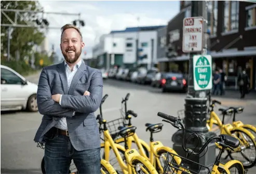
M 194 89 L 207 90 L 212 88 L 211 55 L 193 56 Z

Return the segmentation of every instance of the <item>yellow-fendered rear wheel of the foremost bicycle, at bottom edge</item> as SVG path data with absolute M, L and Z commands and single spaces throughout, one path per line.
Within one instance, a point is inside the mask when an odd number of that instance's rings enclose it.
M 244 174 L 244 167 L 242 167 L 242 164 L 239 162 L 229 161 L 225 164 L 225 168 L 227 168 L 230 171 L 230 174 Z M 218 167 L 218 170 L 220 173 L 226 173 L 223 171 L 223 168 Z

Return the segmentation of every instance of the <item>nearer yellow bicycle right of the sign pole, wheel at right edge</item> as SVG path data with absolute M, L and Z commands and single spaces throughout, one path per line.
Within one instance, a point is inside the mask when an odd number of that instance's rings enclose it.
M 240 146 L 234 149 L 234 152 L 227 150 L 228 155 L 231 159 L 235 159 L 237 156 L 235 153 L 241 153 L 242 157 L 244 157 L 245 161 L 243 163 L 244 168 L 251 168 L 256 164 L 256 142 L 254 135 L 242 128 L 241 126 L 233 126 L 230 123 L 224 124 L 224 118 L 226 115 L 232 115 L 234 113 L 234 108 L 219 108 L 222 112 L 223 118 L 222 121 L 218 117 L 218 115 L 214 112 L 213 108 L 215 103 L 219 103 L 217 100 L 212 100 L 210 105 L 210 119 L 207 120 L 207 128 L 209 131 L 213 131 L 213 125 L 217 125 L 216 128 L 219 128 L 220 134 L 227 134 L 237 138 L 240 141 Z M 248 153 L 248 155 L 253 155 L 252 157 L 245 154 L 246 150 L 252 150 L 253 152 Z M 227 158 L 225 157 L 225 159 Z

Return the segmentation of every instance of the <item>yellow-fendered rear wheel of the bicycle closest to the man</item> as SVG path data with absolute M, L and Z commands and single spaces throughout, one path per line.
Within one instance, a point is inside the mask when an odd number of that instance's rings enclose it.
M 146 160 L 143 156 L 134 156 L 131 164 L 134 166 L 132 168 L 133 173 L 150 173 L 150 174 L 158 174 L 154 166 L 150 163 L 149 160 Z

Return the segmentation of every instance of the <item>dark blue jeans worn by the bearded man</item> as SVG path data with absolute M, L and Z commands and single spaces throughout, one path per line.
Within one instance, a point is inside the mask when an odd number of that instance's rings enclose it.
M 46 173 L 68 173 L 73 159 L 79 174 L 100 173 L 100 148 L 77 151 L 65 135 L 47 139 L 45 144 Z

